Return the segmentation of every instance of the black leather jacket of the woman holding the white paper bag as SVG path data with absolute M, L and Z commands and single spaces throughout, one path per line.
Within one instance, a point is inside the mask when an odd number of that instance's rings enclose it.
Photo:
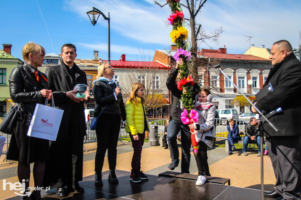
M 42 75 L 47 79 L 44 73 Z M 29 125 L 36 104 L 45 103 L 46 98 L 42 98 L 40 90 L 48 89 L 48 83 L 42 77 L 37 82 L 34 69 L 26 63 L 14 68 L 8 81 L 11 99 L 15 103 L 21 103 L 21 111 L 28 114 L 26 124 Z

